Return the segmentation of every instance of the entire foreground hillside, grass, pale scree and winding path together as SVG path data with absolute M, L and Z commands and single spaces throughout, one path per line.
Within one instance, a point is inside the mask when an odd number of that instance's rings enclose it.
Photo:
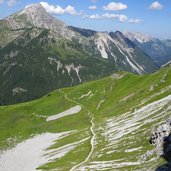
M 170 170 L 170 77 L 118 72 L 1 106 L 0 170 Z

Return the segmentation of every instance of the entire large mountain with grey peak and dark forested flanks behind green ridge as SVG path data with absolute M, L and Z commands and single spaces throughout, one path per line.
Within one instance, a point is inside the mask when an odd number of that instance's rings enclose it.
M 0 104 L 43 96 L 126 70 L 157 70 L 150 57 L 116 31 L 96 32 L 67 26 L 32 5 L 0 21 Z

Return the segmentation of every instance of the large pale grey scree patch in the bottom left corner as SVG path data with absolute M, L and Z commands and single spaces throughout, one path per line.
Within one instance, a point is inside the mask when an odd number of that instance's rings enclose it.
M 47 148 L 56 141 L 71 134 L 45 133 L 19 143 L 16 147 L 0 153 L 0 170 L 4 171 L 36 171 L 36 168 L 46 164 L 54 157 L 46 155 Z

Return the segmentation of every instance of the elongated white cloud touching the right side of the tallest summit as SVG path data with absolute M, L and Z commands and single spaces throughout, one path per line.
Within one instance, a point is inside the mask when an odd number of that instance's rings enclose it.
M 48 13 L 62 15 L 62 14 L 69 14 L 69 15 L 80 15 L 77 13 L 75 8 L 71 5 L 68 5 L 66 8 L 62 8 L 59 5 L 49 5 L 47 2 L 40 2 L 40 4 L 45 8 Z

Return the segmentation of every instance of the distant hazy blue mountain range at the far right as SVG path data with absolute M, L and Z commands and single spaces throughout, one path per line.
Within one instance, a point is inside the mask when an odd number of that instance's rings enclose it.
M 160 40 L 141 33 L 124 32 L 139 48 L 145 51 L 157 65 L 162 66 L 171 60 L 171 40 Z

